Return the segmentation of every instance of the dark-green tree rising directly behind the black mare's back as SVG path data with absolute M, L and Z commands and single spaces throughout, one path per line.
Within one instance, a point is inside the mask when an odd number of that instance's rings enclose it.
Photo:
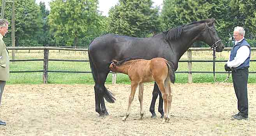
M 109 10 L 109 32 L 132 37 L 147 37 L 159 31 L 159 7 L 152 0 L 119 0 Z

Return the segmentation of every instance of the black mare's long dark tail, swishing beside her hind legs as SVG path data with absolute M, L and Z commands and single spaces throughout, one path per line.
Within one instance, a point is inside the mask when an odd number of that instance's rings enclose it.
M 89 45 L 89 47 L 90 47 L 90 45 Z M 91 68 L 91 71 L 92 71 L 92 77 L 94 78 L 94 83 L 98 84 L 97 70 L 95 69 L 94 63 L 93 63 L 92 58 L 90 56 L 90 48 L 88 48 L 88 56 L 89 56 L 90 68 Z M 116 99 L 113 97 L 114 94 L 112 92 L 108 91 L 108 89 L 106 89 L 105 86 L 104 86 L 104 90 L 105 91 L 104 91 L 103 97 L 106 99 L 106 101 L 108 101 L 109 103 L 115 103 Z M 99 91 L 97 91 L 97 92 L 99 92 Z

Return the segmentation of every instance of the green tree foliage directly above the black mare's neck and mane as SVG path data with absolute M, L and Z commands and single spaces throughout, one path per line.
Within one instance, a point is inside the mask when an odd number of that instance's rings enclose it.
M 205 0 L 164 0 L 161 18 L 166 28 L 173 28 L 209 18 L 210 5 Z

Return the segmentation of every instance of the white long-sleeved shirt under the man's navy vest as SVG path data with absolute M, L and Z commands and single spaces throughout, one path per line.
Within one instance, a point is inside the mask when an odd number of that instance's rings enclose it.
M 235 41 L 235 45 L 238 42 L 241 42 L 243 39 L 244 38 L 242 38 L 239 41 Z M 232 61 L 230 61 L 230 57 L 228 58 L 228 62 L 227 62 L 228 67 L 236 68 L 236 67 L 240 66 L 249 57 L 249 55 L 250 55 L 249 47 L 248 46 L 241 46 L 237 50 L 237 54 L 236 54 L 235 58 Z

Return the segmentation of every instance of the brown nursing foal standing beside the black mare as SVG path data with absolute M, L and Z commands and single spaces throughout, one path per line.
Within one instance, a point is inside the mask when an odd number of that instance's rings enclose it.
M 125 121 L 130 113 L 131 103 L 134 94 L 139 85 L 139 103 L 140 103 L 140 118 L 143 118 L 143 87 L 145 82 L 155 81 L 162 93 L 164 100 L 164 119 L 162 122 L 170 120 L 169 113 L 171 108 L 172 94 L 171 84 L 175 81 L 175 70 L 173 64 L 164 58 L 145 59 L 124 59 L 122 61 L 113 61 L 109 69 L 113 72 L 124 73 L 131 80 L 131 94 L 127 112 L 122 119 Z

